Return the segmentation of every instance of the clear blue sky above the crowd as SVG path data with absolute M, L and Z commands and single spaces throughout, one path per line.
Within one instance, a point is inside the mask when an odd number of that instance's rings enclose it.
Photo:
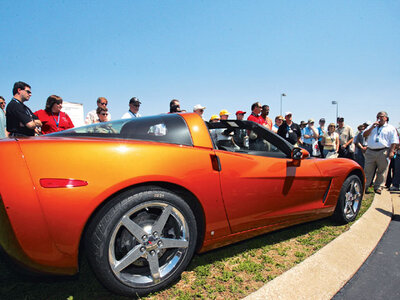
M 142 115 L 177 98 L 296 122 L 336 106 L 353 127 L 386 110 L 400 122 L 400 1 L 8 1 L 0 0 L 0 95 L 32 86 L 84 104 L 109 100 L 113 119 L 136 96 Z M 397 104 L 396 104 L 397 103 Z

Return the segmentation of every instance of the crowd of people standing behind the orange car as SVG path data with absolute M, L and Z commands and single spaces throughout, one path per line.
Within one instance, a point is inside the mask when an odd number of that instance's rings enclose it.
M 7 108 L 5 108 L 6 101 L 0 96 L 0 138 L 48 134 L 74 127 L 70 117 L 61 111 L 63 104 L 61 97 L 49 96 L 45 109 L 32 112 L 25 105 L 32 95 L 30 85 L 18 81 L 14 84 L 12 92 L 13 98 Z M 107 105 L 107 99 L 99 97 L 97 108 L 89 111 L 85 123 L 110 121 L 111 114 Z M 121 116 L 121 119 L 141 117 L 140 105 L 138 98 L 131 98 L 129 110 Z M 205 106 L 197 104 L 193 107 L 193 112 L 203 118 L 205 109 Z M 293 113 L 290 111 L 284 116 L 276 116 L 273 122 L 269 117 L 269 111 L 268 105 L 255 102 L 251 105 L 251 113 L 247 120 L 265 126 L 294 146 L 306 149 L 311 156 L 355 160 L 364 168 L 366 186 L 373 185 L 376 193 L 381 193 L 383 185 L 393 191 L 400 190 L 399 133 L 388 123 L 389 116 L 386 112 L 379 112 L 377 121 L 372 124 L 368 122 L 360 124 L 358 132 L 354 135 L 352 128 L 344 123 L 343 117 L 338 117 L 336 124 L 330 123 L 325 128 L 324 118 L 319 120 L 318 127 L 311 118 L 307 122 L 301 121 L 297 124 L 293 121 Z M 168 113 L 179 112 L 186 111 L 181 109 L 179 100 L 172 99 Z M 243 110 L 235 113 L 237 120 L 244 120 L 245 115 L 246 112 Z M 212 115 L 209 122 L 227 120 L 229 116 L 230 113 L 222 109 L 219 114 Z

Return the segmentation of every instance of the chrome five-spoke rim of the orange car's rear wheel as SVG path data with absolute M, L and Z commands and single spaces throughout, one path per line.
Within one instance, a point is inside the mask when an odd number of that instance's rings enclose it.
M 156 201 L 122 216 L 109 242 L 115 276 L 131 287 L 150 287 L 174 273 L 189 246 L 188 224 L 174 206 Z

